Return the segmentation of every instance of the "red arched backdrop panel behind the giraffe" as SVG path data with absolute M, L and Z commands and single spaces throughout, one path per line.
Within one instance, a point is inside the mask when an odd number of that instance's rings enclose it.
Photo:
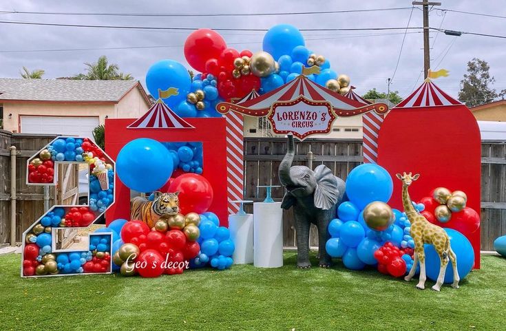
M 394 180 L 390 206 L 402 210 L 402 183 L 396 173 L 420 173 L 410 186 L 418 202 L 438 186 L 467 194 L 467 206 L 478 213 L 481 202 L 481 136 L 465 105 L 392 109 L 378 139 L 378 164 Z M 480 230 L 467 237 L 480 267 Z

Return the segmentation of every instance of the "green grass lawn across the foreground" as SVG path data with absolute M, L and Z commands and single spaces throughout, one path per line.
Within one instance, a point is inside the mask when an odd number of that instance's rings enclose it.
M 506 259 L 483 256 L 454 290 L 376 270 L 187 270 L 156 279 L 19 277 L 0 256 L 0 330 L 506 330 Z M 313 265 L 317 262 L 313 255 Z

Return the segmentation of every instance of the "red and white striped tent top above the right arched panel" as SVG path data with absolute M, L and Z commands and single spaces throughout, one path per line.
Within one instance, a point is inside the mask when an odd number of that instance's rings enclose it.
M 462 103 L 443 92 L 443 90 L 432 83 L 432 81 L 426 79 L 419 88 L 394 108 L 441 107 L 452 105 L 462 105 Z

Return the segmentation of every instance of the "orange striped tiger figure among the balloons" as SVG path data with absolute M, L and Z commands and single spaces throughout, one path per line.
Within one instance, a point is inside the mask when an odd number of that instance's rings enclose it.
M 179 192 L 162 193 L 156 191 L 154 195 L 153 201 L 149 201 L 145 197 L 134 197 L 130 201 L 130 220 L 143 221 L 149 228 L 153 228 L 160 216 L 179 213 Z

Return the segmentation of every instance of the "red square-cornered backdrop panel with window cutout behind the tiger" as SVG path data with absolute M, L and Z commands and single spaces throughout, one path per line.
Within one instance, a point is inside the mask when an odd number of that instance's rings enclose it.
M 127 129 L 135 118 L 105 120 L 105 150 L 114 160 L 127 142 L 151 138 L 159 142 L 202 142 L 202 175 L 213 186 L 213 204 L 209 207 L 220 225 L 228 226 L 226 209 L 226 122 L 224 118 L 185 118 L 195 129 Z M 142 174 L 140 174 L 142 175 Z M 149 175 L 149 174 L 145 174 Z M 107 224 L 118 218 L 130 219 L 130 189 L 116 175 L 116 201 L 107 210 Z

